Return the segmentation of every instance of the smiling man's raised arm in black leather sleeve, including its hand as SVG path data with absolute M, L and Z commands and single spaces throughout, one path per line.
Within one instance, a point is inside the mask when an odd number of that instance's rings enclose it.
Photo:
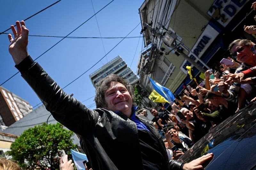
M 98 121 L 99 113 L 67 95 L 43 68 L 28 56 L 28 29 L 24 21 L 17 21 L 16 25 L 17 31 L 11 26 L 14 39 L 8 34 L 9 52 L 15 67 L 20 70 L 22 77 L 58 122 L 81 136 L 90 133 Z

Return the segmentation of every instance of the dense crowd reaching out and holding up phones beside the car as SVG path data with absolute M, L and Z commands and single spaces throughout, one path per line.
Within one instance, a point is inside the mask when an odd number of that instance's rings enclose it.
M 244 26 L 244 31 L 256 34 L 256 26 Z M 160 103 L 157 109 L 150 109 L 169 160 L 179 159 L 214 127 L 256 101 L 255 43 L 237 39 L 230 43 L 228 50 L 230 56 L 224 60 L 230 64 L 220 63 L 218 69 L 206 70 L 204 80 L 198 82 L 200 85 L 196 82 L 194 88 L 184 87 L 169 107 Z

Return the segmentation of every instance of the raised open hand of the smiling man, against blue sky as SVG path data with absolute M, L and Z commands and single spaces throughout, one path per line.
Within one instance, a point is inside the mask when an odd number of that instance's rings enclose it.
M 16 21 L 16 27 L 17 31 L 13 25 L 11 26 L 14 39 L 11 34 L 8 34 L 10 41 L 9 53 L 12 55 L 14 63 L 19 64 L 28 56 L 28 29 L 26 28 L 24 21 Z

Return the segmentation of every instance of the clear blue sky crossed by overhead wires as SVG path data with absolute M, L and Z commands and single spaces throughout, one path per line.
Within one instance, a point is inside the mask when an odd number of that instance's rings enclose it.
M 26 1 L 3 1 L 0 7 L 0 32 L 16 20 L 23 20 L 36 12 L 56 2 L 50 0 L 26 0 Z M 93 0 L 95 12 L 108 4 L 110 0 Z M 137 24 L 140 23 L 139 8 L 143 0 L 115 0 L 105 9 L 100 11 L 98 19 L 102 37 L 124 37 Z M 29 34 L 66 36 L 77 26 L 94 14 L 91 0 L 62 0 L 47 10 L 37 14 L 26 21 Z M 139 25 L 129 36 L 140 36 Z M 11 30 L 7 31 L 11 33 Z M 70 36 L 100 37 L 96 19 L 93 17 L 83 26 L 78 28 Z M 60 38 L 29 37 L 28 53 L 33 59 L 58 42 Z M 121 39 L 103 39 L 106 53 L 112 49 Z M 122 56 L 130 66 L 135 53 L 139 38 L 125 39 L 112 52 L 104 58 L 102 63 L 107 63 L 117 55 Z M 17 72 L 14 62 L 8 52 L 9 41 L 7 34 L 0 35 L 0 84 Z M 142 38 L 132 63 L 132 70 L 136 72 L 139 52 L 142 48 Z M 105 55 L 100 39 L 64 39 L 57 46 L 37 59 L 37 62 L 46 72 L 61 86 L 64 87 L 72 80 L 80 76 L 84 71 L 96 63 Z M 95 95 L 95 89 L 89 79 L 89 74 L 100 68 L 103 64 L 98 63 L 85 73 L 81 78 L 65 88 L 68 94 L 73 93 L 77 100 L 83 101 Z M 27 100 L 32 106 L 40 103 L 33 90 L 20 76 L 20 73 L 3 85 L 4 88 Z M 94 103 L 93 98 L 85 101 L 86 106 Z M 92 109 L 95 107 L 92 107 Z

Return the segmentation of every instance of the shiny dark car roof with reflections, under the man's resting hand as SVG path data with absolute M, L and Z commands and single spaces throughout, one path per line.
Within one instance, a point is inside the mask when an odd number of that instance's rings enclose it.
M 211 169 L 253 169 L 256 166 L 256 103 L 245 107 L 212 129 L 180 157 L 190 162 L 207 153 Z

